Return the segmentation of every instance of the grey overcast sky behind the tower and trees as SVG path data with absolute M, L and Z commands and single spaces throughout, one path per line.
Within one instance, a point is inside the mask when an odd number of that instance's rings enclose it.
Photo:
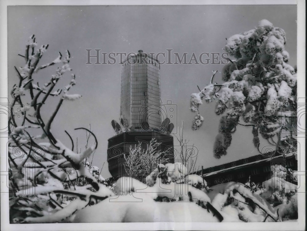
M 196 56 L 203 52 L 223 52 L 226 38 L 254 29 L 261 19 L 267 19 L 286 31 L 286 50 L 290 54 L 290 64 L 294 66 L 297 46 L 296 5 L 9 6 L 9 88 L 18 81 L 14 66 L 24 65 L 23 58 L 17 54 L 24 54 L 25 42 L 32 34 L 36 35 L 39 45 L 49 44 L 48 53 L 41 64 L 56 58 L 58 51 L 63 54 L 68 49 L 72 54 L 70 65 L 77 81 L 70 93 L 79 93 L 83 97 L 74 102 L 64 102 L 52 124 L 52 131 L 67 146 L 70 146 L 70 141 L 64 130 L 73 137 L 78 136 L 79 146 L 83 148 L 85 134 L 73 129 L 91 124 L 99 141 L 93 165 L 100 168 L 106 161 L 102 175 L 110 177 L 107 139 L 114 135 L 111 120 L 119 121 L 120 116 L 121 67 L 119 64 L 85 64 L 85 49 L 101 49 L 101 52 L 107 53 L 143 50 L 155 54 L 173 49 L 173 52 L 181 55 L 187 52 L 190 58 L 193 52 Z M 160 61 L 163 61 L 162 57 Z M 194 143 L 199 149 L 197 165 L 203 165 L 204 168 L 258 154 L 252 144 L 251 129 L 238 127 L 227 156 L 219 160 L 213 157 L 213 143 L 220 119 L 214 113 L 214 102 L 204 102 L 200 107 L 205 121 L 200 130 L 192 131 L 194 114 L 189 110 L 190 95 L 197 92 L 197 85 L 204 87 L 208 84 L 212 70 L 219 71 L 216 82 L 221 82 L 222 65 L 164 64 L 160 69 L 162 102 L 171 100 L 176 105 L 177 113 L 171 122 L 176 127 L 177 121 L 177 125 L 184 121 L 184 132 L 190 140 L 189 144 Z M 39 77 L 37 81 L 44 83 L 52 73 L 46 70 L 41 74 L 35 78 Z M 61 79 L 59 85 L 65 86 L 69 80 L 67 76 Z M 58 99 L 47 102 L 44 117 L 48 115 L 48 110 L 54 110 L 56 102 Z

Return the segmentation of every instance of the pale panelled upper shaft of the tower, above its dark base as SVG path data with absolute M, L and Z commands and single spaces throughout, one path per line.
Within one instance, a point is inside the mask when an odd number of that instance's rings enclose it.
M 132 130 L 161 126 L 159 61 L 143 53 L 122 62 L 120 115 Z

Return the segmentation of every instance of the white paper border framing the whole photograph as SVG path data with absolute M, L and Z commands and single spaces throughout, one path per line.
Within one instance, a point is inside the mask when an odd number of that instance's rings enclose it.
M 7 6 L 14 5 L 256 5 L 255 1 L 227 1 L 227 0 L 208 0 L 208 1 L 162 1 L 155 0 L 150 2 L 143 2 L 141 0 L 135 1 L 99 1 L 99 0 L 4 0 L 0 2 L 0 99 L 7 98 L 8 95 L 8 83 L 7 83 Z M 298 98 L 303 98 L 305 102 L 305 1 L 304 0 L 258 0 L 257 5 L 296 5 L 297 4 L 297 92 Z M 7 122 L 7 116 L 0 115 L 1 123 Z M 305 114 L 302 118 L 302 126 L 305 126 Z M 301 153 L 305 153 L 305 139 L 304 137 L 298 137 L 298 141 L 301 146 Z M 7 138 L 1 137 L 1 169 L 6 169 L 6 144 Z M 300 169 L 305 170 L 305 155 L 301 155 Z M 6 188 L 6 175 L 4 171 L 1 171 L 1 189 L 8 190 Z M 305 186 L 305 177 L 301 177 L 301 185 Z M 9 223 L 9 199 L 8 193 L 1 193 L 1 230 L 305 230 L 305 193 L 304 187 L 300 187 L 298 191 L 298 222 L 266 222 L 266 223 L 209 223 L 209 222 L 154 222 L 154 223 L 57 223 L 57 224 L 10 224 Z M 1 190 L 1 191 L 2 191 Z

